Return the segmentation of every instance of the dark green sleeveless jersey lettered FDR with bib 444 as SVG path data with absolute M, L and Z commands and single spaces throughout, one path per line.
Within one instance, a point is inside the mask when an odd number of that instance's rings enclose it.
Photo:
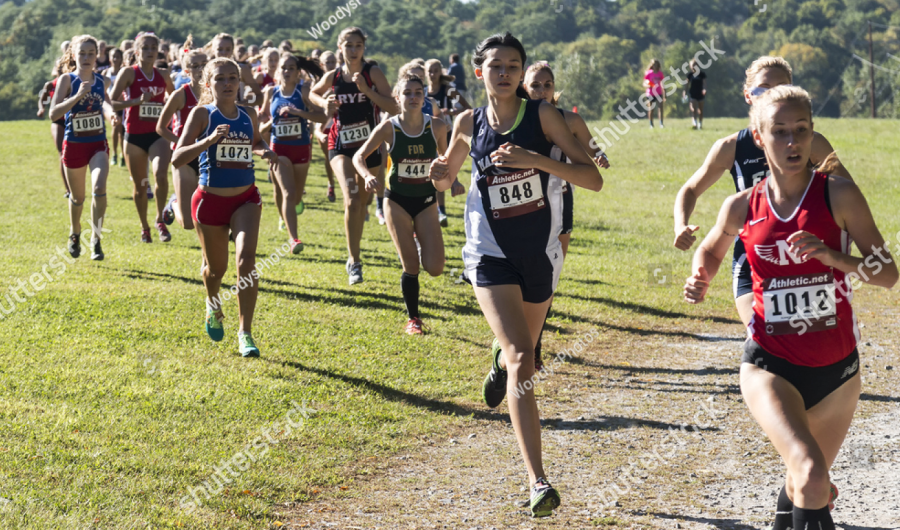
M 387 182 L 391 193 L 425 197 L 436 191 L 428 178 L 428 170 L 431 162 L 437 158 L 437 140 L 434 138 L 431 116 L 426 115 L 424 118 L 422 132 L 416 136 L 403 132 L 398 116 L 391 118 L 394 139 L 388 153 L 391 171 Z

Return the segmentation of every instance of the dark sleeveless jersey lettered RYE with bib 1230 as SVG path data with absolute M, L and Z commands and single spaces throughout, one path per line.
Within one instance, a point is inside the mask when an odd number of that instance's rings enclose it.
M 366 63 L 362 69 L 369 87 L 375 85 L 369 74 L 371 70 L 372 63 Z M 378 123 L 378 107 L 359 91 L 356 83 L 344 79 L 343 65 L 334 73 L 332 88 L 339 105 L 328 131 L 328 149 L 358 149 Z

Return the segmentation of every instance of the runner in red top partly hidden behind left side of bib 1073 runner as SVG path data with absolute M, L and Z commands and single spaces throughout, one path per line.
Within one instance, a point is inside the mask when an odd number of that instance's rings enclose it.
M 188 116 L 197 106 L 198 94 L 202 92 L 201 78 L 206 67 L 206 54 L 200 48 L 191 48 L 194 39 L 188 36 L 184 43 L 181 61 L 184 63 L 184 72 L 190 81 L 172 92 L 163 108 L 162 116 L 156 122 L 156 133 L 172 143 L 172 150 L 178 147 L 178 138 L 184 132 Z M 169 130 L 168 124 L 172 123 Z M 172 183 L 175 185 L 175 193 L 169 198 L 166 208 L 163 210 L 163 221 L 170 225 L 174 219 L 185 230 L 194 229 L 194 220 L 191 218 L 191 197 L 197 189 L 200 179 L 200 160 L 195 158 L 187 164 L 176 168 L 172 166 Z

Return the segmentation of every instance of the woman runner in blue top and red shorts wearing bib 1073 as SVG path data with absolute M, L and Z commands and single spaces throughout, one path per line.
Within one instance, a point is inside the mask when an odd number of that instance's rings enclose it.
M 256 244 L 262 198 L 254 185 L 253 155 L 277 167 L 278 157 L 259 135 L 256 111 L 237 104 L 241 67 L 220 57 L 203 69 L 202 93 L 178 140 L 172 164 L 176 168 L 200 159 L 200 185 L 191 199 L 191 215 L 207 266 L 206 332 L 214 341 L 225 336 L 224 313 L 219 298 L 228 270 L 228 233 L 234 235 L 235 261 L 240 287 L 238 346 L 243 357 L 259 357 L 251 336 L 259 273 Z

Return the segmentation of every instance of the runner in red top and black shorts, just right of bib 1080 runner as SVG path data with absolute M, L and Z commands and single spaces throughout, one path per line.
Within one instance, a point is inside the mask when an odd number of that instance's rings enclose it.
M 163 222 L 162 211 L 169 196 L 169 161 L 172 149 L 165 138 L 156 132 L 156 122 L 162 115 L 166 94 L 175 88 L 168 72 L 153 66 L 159 55 L 159 38 L 142 33 L 134 42 L 138 64 L 124 68 L 116 77 L 112 89 L 113 108 L 125 109 L 125 163 L 134 184 L 132 197 L 141 221 L 141 241 L 151 243 L 147 223 L 147 196 L 144 194 L 150 179 L 148 165 L 156 181 L 156 230 L 159 240 L 171 241 L 172 235 Z M 126 101 L 119 101 L 126 92 Z

